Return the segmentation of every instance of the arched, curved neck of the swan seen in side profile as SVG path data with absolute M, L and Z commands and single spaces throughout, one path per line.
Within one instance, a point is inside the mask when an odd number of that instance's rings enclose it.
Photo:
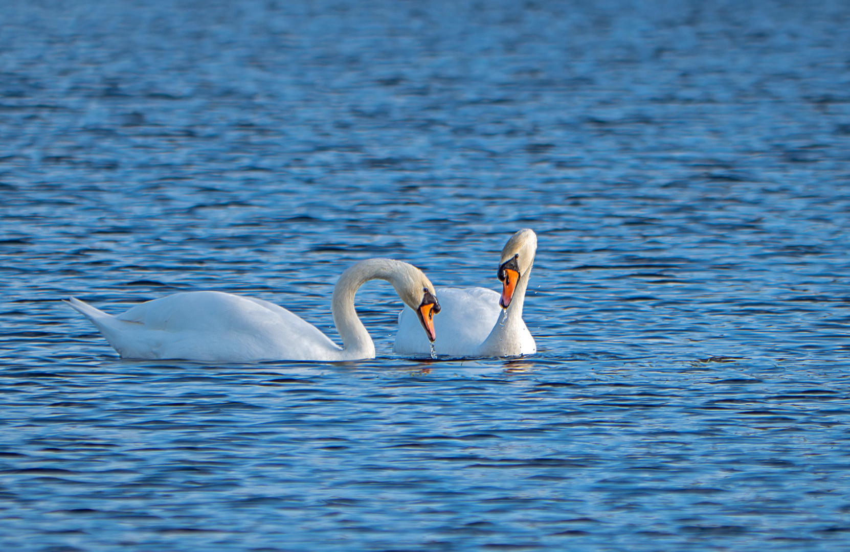
M 354 310 L 354 295 L 360 286 L 373 279 L 401 284 L 406 274 L 405 263 L 392 259 L 367 259 L 348 268 L 337 280 L 331 299 L 333 324 L 343 340 L 344 358 L 374 358 L 375 344 Z M 344 359 L 343 358 L 343 359 Z

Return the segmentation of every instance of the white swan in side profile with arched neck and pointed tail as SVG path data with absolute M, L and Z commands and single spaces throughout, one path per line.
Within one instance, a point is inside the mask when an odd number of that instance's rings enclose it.
M 375 345 L 354 311 L 354 294 L 372 279 L 393 284 L 401 300 L 416 311 L 428 340 L 435 339 L 433 315 L 439 313 L 439 302 L 433 285 L 418 268 L 392 259 L 358 262 L 337 280 L 331 313 L 342 347 L 283 307 L 220 291 L 178 293 L 118 316 L 73 297 L 65 302 L 88 318 L 122 358 L 211 363 L 357 360 L 375 358 Z

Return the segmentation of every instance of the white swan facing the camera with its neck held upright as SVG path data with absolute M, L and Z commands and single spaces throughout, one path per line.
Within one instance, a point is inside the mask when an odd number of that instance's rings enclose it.
M 537 251 L 537 236 L 529 228 L 519 230 L 501 250 L 498 278 L 501 297 L 485 288 L 440 288 L 442 313 L 434 323 L 439 331 L 434 352 L 454 358 L 519 357 L 537 352 L 534 338 L 523 321 L 525 289 Z M 418 335 L 416 317 L 410 309 L 399 313 L 399 333 L 393 352 L 428 354 L 428 341 Z

